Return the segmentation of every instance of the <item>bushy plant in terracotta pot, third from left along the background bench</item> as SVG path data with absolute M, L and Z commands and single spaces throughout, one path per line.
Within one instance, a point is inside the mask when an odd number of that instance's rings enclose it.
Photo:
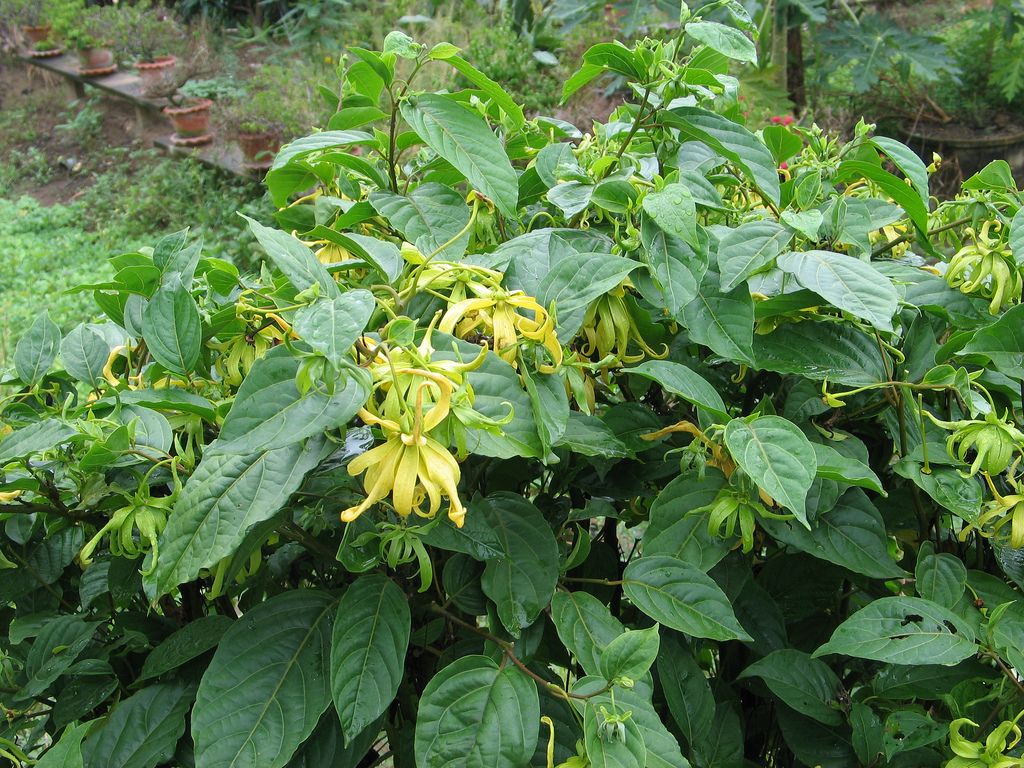
M 172 15 L 148 0 L 118 7 L 118 52 L 138 72 L 142 93 L 153 96 L 164 82 L 174 79 L 174 52 L 184 40 L 183 31 Z

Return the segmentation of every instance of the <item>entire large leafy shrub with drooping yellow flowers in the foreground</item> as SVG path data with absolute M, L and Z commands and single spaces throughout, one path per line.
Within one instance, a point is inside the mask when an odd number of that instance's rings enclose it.
M 38 314 L 8 759 L 1021 765 L 1020 193 L 745 127 L 719 9 L 590 48 L 587 133 L 351 49 L 258 272 L 182 230 Z

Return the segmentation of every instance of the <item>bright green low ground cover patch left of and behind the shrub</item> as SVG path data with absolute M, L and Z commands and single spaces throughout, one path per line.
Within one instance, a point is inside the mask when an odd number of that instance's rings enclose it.
M 0 364 L 43 310 L 63 331 L 94 319 L 82 283 L 111 275 L 108 257 L 152 246 L 189 227 L 204 254 L 251 266 L 258 255 L 237 211 L 266 220 L 270 206 L 259 186 L 197 164 L 125 151 L 117 170 L 96 177 L 72 203 L 44 206 L 34 198 L 0 197 Z

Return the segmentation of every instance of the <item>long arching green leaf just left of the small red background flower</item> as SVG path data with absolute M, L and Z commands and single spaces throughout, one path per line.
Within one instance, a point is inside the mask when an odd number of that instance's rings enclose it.
M 778 167 L 760 139 L 737 123 L 698 106 L 665 110 L 662 120 L 693 141 L 703 141 L 745 173 L 772 203 L 781 196 Z

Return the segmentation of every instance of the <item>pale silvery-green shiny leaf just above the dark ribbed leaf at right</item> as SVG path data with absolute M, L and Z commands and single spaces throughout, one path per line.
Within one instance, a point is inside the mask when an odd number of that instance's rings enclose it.
M 791 251 L 777 263 L 833 306 L 892 331 L 899 297 L 889 279 L 866 261 L 831 251 Z

